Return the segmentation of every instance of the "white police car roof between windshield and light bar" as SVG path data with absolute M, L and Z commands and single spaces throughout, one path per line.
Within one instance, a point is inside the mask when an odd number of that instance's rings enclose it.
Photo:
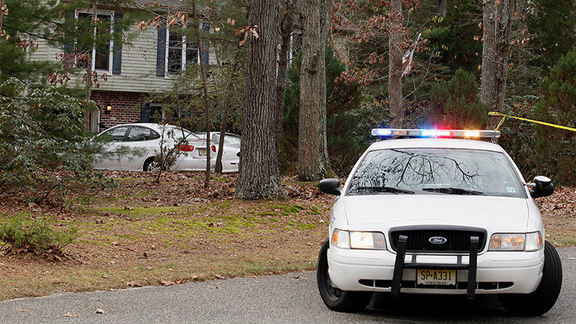
M 380 140 L 368 147 L 368 151 L 377 149 L 408 148 L 442 148 L 442 149 L 481 149 L 484 151 L 504 152 L 500 145 L 484 140 L 462 140 L 454 138 L 398 138 Z

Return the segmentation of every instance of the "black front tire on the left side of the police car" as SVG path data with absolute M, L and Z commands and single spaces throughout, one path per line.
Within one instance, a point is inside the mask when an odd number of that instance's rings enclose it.
M 333 285 L 328 274 L 329 240 L 324 242 L 318 256 L 318 269 L 316 278 L 320 296 L 326 306 L 333 311 L 354 312 L 361 311 L 368 306 L 372 293 L 366 291 L 345 291 Z

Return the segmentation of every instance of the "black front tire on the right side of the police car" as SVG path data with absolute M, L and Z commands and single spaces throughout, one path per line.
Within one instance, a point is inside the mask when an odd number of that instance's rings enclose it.
M 533 293 L 498 295 L 506 311 L 520 316 L 540 316 L 552 309 L 562 288 L 562 263 L 554 246 L 544 242 L 542 280 Z

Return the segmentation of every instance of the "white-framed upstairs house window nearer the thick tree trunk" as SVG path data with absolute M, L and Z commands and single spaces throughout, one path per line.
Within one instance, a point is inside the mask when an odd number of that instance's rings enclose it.
M 192 41 L 187 41 L 186 35 L 166 29 L 166 74 L 178 75 L 186 69 L 187 64 L 199 64 L 200 54 Z

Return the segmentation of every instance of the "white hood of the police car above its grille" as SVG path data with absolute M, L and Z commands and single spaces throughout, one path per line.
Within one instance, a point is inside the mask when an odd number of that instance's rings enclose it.
M 473 226 L 500 230 L 525 229 L 524 198 L 459 195 L 347 196 L 344 209 L 350 229 L 367 224 L 395 226 Z

